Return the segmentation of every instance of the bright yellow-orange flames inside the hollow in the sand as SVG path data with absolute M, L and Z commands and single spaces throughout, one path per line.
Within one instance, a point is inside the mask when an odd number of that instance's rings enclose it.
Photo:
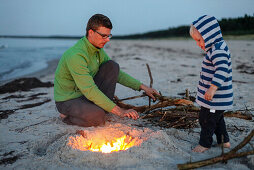
M 74 149 L 82 151 L 93 151 L 102 153 L 111 153 L 127 150 L 132 146 L 141 144 L 142 139 L 133 138 L 130 135 L 124 135 L 120 138 L 114 137 L 113 140 L 107 141 L 100 138 L 86 139 L 83 136 L 69 137 L 68 145 Z

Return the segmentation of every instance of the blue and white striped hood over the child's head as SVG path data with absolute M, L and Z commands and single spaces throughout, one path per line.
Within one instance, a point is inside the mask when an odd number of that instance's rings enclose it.
M 204 15 L 192 24 L 205 40 L 206 51 L 208 51 L 215 43 L 223 40 L 220 25 L 215 17 Z

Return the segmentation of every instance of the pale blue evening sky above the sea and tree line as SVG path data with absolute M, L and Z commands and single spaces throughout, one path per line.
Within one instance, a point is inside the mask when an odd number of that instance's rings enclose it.
M 0 35 L 84 35 L 88 19 L 108 16 L 113 35 L 254 14 L 254 0 L 0 0 Z

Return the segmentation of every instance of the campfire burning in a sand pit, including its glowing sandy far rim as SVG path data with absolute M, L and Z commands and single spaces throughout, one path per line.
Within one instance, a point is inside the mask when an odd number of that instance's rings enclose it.
M 116 133 L 115 131 L 112 133 L 103 131 L 93 134 L 77 131 L 77 135 L 69 137 L 67 145 L 81 151 L 112 153 L 138 146 L 143 141 L 139 137 L 131 136 L 128 132 L 118 131 Z

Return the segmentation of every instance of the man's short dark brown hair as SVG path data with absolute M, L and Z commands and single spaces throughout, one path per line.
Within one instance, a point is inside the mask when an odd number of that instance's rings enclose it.
M 97 30 L 99 27 L 106 27 L 109 29 L 113 28 L 112 23 L 107 16 L 102 14 L 95 14 L 87 22 L 86 36 L 88 36 L 88 31 L 90 29 Z

